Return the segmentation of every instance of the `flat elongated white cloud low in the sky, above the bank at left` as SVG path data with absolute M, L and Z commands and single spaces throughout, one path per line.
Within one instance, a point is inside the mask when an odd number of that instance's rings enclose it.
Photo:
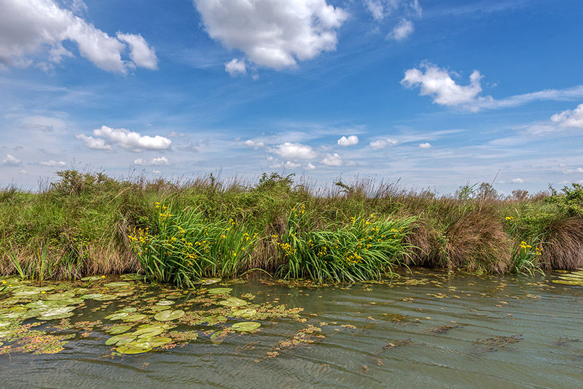
M 160 135 L 151 137 L 141 135 L 135 131 L 126 129 L 111 129 L 108 126 L 101 126 L 101 129 L 93 130 L 94 136 L 107 138 L 110 144 L 117 144 L 128 151 L 139 152 L 144 150 L 167 150 L 172 141 Z

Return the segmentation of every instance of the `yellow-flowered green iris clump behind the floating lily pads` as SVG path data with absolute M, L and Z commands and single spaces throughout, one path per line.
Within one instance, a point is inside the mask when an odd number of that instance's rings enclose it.
M 193 286 L 205 276 L 234 276 L 248 262 L 257 234 L 231 219 L 210 221 L 196 209 L 155 203 L 153 226 L 133 229 L 131 248 L 150 279 Z

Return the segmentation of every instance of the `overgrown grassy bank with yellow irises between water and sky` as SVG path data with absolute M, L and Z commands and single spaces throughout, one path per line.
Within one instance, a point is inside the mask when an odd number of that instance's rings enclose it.
M 65 170 L 39 192 L 0 191 L 0 273 L 36 279 L 145 272 L 192 285 L 249 270 L 355 281 L 394 266 L 467 272 L 583 267 L 583 187 L 500 197 L 370 180 L 316 190 L 294 176 L 257 183 L 130 181 Z

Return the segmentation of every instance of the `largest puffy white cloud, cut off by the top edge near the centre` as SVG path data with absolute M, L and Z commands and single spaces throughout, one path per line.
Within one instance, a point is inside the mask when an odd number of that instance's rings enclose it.
M 326 0 L 193 0 L 208 35 L 251 62 L 294 67 L 336 49 L 337 28 L 348 14 Z

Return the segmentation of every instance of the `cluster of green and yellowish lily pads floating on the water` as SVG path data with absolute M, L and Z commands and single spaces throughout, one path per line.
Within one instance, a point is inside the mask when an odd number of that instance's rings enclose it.
M 269 301 L 253 304 L 248 301 L 253 295 L 242 295 L 244 299 L 231 295 L 233 289 L 226 286 L 207 288 L 220 279 L 205 280 L 206 285 L 196 289 L 153 291 L 135 282 L 138 276 L 122 277 L 122 281 L 108 281 L 90 276 L 81 283 L 51 285 L 2 280 L 0 354 L 54 353 L 71 339 L 97 335 L 101 340 L 103 334 L 108 336 L 105 345 L 112 347 L 112 354 L 140 354 L 184 345 L 199 334 L 220 343 L 229 334 L 259 331 L 258 320 L 270 317 L 301 321 L 301 308 L 273 306 Z M 95 320 L 87 322 L 87 316 Z M 31 347 L 33 342 L 47 346 Z

